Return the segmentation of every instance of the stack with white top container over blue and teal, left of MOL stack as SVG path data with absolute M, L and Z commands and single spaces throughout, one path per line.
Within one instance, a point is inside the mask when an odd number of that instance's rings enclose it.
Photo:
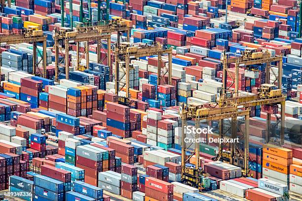
M 73 138 L 67 138 L 65 140 L 65 163 L 76 166 L 76 147 L 81 142 Z

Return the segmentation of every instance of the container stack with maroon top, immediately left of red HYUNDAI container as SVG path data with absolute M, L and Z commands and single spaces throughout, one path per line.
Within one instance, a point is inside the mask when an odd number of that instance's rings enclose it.
M 120 195 L 132 199 L 133 192 L 137 191 L 137 167 L 122 165 Z

